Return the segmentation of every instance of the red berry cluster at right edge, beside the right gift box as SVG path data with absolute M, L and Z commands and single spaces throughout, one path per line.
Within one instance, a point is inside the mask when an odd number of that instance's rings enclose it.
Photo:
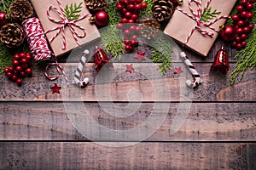
M 241 49 L 247 45 L 247 34 L 253 30 L 253 23 L 250 23 L 253 18 L 253 3 L 255 0 L 241 0 L 241 4 L 236 7 L 237 14 L 232 15 L 232 20 L 236 29 L 236 38 L 232 42 L 232 47 Z

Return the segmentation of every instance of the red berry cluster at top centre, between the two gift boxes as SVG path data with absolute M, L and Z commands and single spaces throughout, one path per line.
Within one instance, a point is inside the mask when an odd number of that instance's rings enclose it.
M 140 31 L 139 26 L 134 26 L 133 23 L 140 23 L 138 14 L 142 8 L 147 8 L 147 3 L 143 0 L 119 0 L 116 8 L 122 14 L 122 20 L 117 24 L 117 28 L 123 29 L 125 34 L 125 51 L 131 52 L 138 45 L 137 33 Z M 127 25 L 125 25 L 127 23 Z M 129 25 L 128 25 L 129 24 Z

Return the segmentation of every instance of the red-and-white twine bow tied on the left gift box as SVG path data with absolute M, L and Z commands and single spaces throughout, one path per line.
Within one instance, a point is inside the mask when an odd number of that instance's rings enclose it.
M 57 23 L 57 24 L 61 24 L 61 26 L 57 26 L 57 27 L 55 27 L 53 29 L 50 29 L 49 31 L 45 32 L 47 34 L 47 33 L 51 32 L 51 31 L 56 31 L 57 30 L 55 35 L 51 39 L 49 39 L 49 42 L 52 42 L 55 39 L 55 37 L 57 37 L 60 33 L 62 33 L 62 37 L 63 37 L 62 49 L 66 49 L 67 43 L 66 43 L 66 36 L 65 36 L 65 27 L 68 26 L 69 30 L 72 32 L 72 35 L 73 35 L 73 38 L 74 38 L 75 42 L 77 42 L 77 44 L 80 45 L 78 37 L 79 38 L 85 37 L 86 36 L 86 30 L 85 30 L 85 28 L 83 26 L 79 26 L 78 24 L 76 24 L 76 22 L 78 22 L 79 20 L 84 20 L 84 18 L 90 16 L 90 14 L 85 14 L 83 17 L 80 17 L 77 20 L 68 20 L 67 19 L 67 14 L 65 14 L 65 10 L 62 7 L 61 2 L 59 0 L 57 0 L 57 3 L 59 5 L 59 8 L 61 9 L 61 11 L 58 8 L 53 7 L 53 6 L 49 6 L 49 8 L 47 9 L 48 19 L 50 21 L 52 21 L 52 22 Z M 49 11 L 50 10 L 55 11 L 55 13 L 58 14 L 61 17 L 61 20 L 55 20 L 54 18 L 50 17 L 50 15 L 49 15 Z M 75 30 L 75 27 L 77 27 L 80 30 L 82 30 L 83 34 L 80 35 Z

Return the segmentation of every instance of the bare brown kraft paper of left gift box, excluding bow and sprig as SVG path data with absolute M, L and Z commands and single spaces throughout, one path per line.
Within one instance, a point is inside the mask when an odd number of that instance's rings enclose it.
M 85 14 L 90 14 L 89 10 L 86 8 L 84 0 L 60 0 L 61 6 L 63 8 L 66 7 L 66 5 L 70 5 L 71 3 L 76 3 L 79 5 L 79 3 L 82 3 L 82 8 L 80 8 L 81 12 L 80 17 L 83 17 Z M 35 9 L 36 14 L 38 15 L 38 19 L 41 22 L 41 25 L 43 26 L 44 32 L 49 31 L 51 29 L 54 29 L 57 26 L 61 26 L 59 23 L 55 23 L 51 20 L 49 20 L 49 17 L 47 15 L 47 10 L 49 6 L 57 8 L 59 11 L 61 11 L 59 4 L 57 3 L 57 0 L 44 0 L 44 1 L 38 1 L 38 0 L 31 0 L 32 6 Z M 49 15 L 51 18 L 55 20 L 61 20 L 61 17 L 55 13 L 53 9 L 49 10 Z M 79 44 L 87 44 L 89 42 L 96 41 L 101 37 L 99 31 L 97 30 L 95 25 L 91 25 L 89 21 L 90 16 L 87 16 L 83 20 L 79 20 L 76 22 L 79 26 L 82 26 L 86 30 L 86 37 L 78 38 Z M 79 29 L 76 26 L 73 26 L 75 31 L 77 31 L 80 35 L 83 35 L 83 31 Z M 48 40 L 50 40 L 52 37 L 55 36 L 55 33 L 58 30 L 50 31 L 46 33 L 46 37 Z M 75 41 L 72 31 L 68 28 L 68 26 L 65 26 L 65 38 L 66 38 L 66 48 L 62 49 L 63 46 L 63 37 L 62 32 L 58 34 L 55 39 L 52 42 L 49 42 L 50 47 L 52 48 L 53 53 L 55 56 L 61 56 L 62 54 L 66 54 L 70 52 L 73 48 L 79 47 L 79 44 Z

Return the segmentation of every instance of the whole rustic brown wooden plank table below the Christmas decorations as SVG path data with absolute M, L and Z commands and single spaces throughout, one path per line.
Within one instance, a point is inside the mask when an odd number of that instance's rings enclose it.
M 0 76 L 0 169 L 256 169 L 256 144 L 253 143 L 256 139 L 256 71 L 247 70 L 240 82 L 230 86 L 236 52 L 227 47 L 230 71 L 227 75 L 210 74 L 212 60 L 221 45 L 217 40 L 206 59 L 183 49 L 203 79 L 203 84 L 191 91 L 191 102 L 181 97 L 179 87 L 191 76 L 185 74 L 184 69 L 180 76 L 173 75 L 173 68 L 184 66 L 178 59 L 173 59 L 172 71 L 165 79 L 170 88 L 166 90 L 172 98 L 162 101 L 152 96 L 155 92 L 149 82 L 157 82 L 160 77 L 154 75 L 151 63 L 133 63 L 132 74 L 125 72 L 125 65 L 132 60 L 113 64 L 114 70 L 119 72 L 110 86 L 114 103 L 96 97 L 96 93 L 104 94 L 109 86 L 102 83 L 95 88 L 94 64 L 86 64 L 84 76 L 90 78 L 90 84 L 82 89 L 82 100 L 97 124 L 123 131 L 140 127 L 155 103 L 168 105 L 164 122 L 143 142 L 129 141 L 125 137 L 112 140 L 103 133 L 102 139 L 86 138 L 76 125 L 73 126 L 73 118 L 65 108 L 67 104 L 76 105 L 78 98 L 63 101 L 68 89 L 64 88 L 61 78 L 55 81 L 62 86 L 61 94 L 52 94 L 49 87 L 55 82 L 44 77 L 39 65 L 34 66 L 33 76 L 26 78 L 21 87 Z M 67 76 L 72 77 L 78 63 L 65 65 Z M 140 72 L 147 72 L 151 80 L 148 82 L 148 77 Z M 143 99 L 133 115 L 109 116 L 108 111 L 102 109 L 102 103 L 119 107 L 130 104 L 126 95 L 127 90 L 133 88 L 137 88 L 134 92 L 140 92 Z M 136 103 L 137 95 L 130 98 Z M 179 105 L 183 105 L 182 108 L 189 105 L 189 112 L 177 132 L 170 134 Z M 149 125 L 146 126 L 148 131 L 153 131 Z M 119 144 L 127 146 L 113 147 Z

